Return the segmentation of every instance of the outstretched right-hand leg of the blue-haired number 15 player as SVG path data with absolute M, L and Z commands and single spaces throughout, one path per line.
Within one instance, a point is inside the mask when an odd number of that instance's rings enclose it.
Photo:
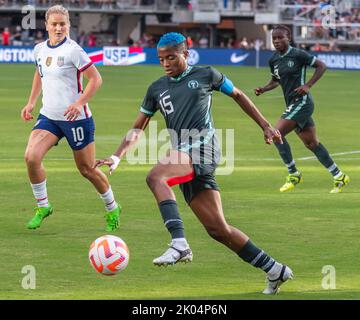
M 289 267 L 274 260 L 246 234 L 226 222 L 219 191 L 202 190 L 194 196 L 190 207 L 212 238 L 234 251 L 245 262 L 267 273 L 268 287 L 263 293 L 275 294 L 283 282 L 292 279 L 293 273 Z

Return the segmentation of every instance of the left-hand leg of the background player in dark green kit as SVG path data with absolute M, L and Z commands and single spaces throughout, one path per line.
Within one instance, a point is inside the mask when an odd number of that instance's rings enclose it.
M 283 143 L 280 144 L 275 142 L 275 146 L 279 151 L 280 157 L 286 165 L 289 175 L 286 177 L 285 184 L 280 188 L 280 192 L 290 191 L 295 188 L 298 183 L 302 182 L 301 173 L 297 170 L 295 166 L 295 160 L 291 153 L 291 148 L 287 142 L 285 136 L 293 131 L 297 126 L 297 123 L 294 120 L 287 120 L 280 118 L 276 124 L 276 128 L 280 131 L 282 135 Z

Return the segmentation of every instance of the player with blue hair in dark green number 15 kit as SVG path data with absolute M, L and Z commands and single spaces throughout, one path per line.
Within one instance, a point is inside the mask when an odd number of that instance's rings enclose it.
M 115 170 L 120 158 L 138 140 L 150 118 L 159 110 L 165 118 L 172 149 L 153 167 L 146 181 L 156 198 L 172 242 L 153 263 L 173 265 L 192 261 L 193 258 L 171 189 L 171 186 L 179 184 L 185 200 L 208 234 L 244 261 L 264 270 L 268 285 L 263 293 L 274 294 L 283 282 L 293 277 L 291 269 L 256 247 L 247 235 L 229 225 L 223 214 L 214 176 L 220 151 L 210 113 L 213 90 L 232 97 L 263 129 L 266 143 L 270 144 L 273 140 L 281 143 L 280 133 L 219 71 L 211 67 L 188 66 L 189 52 L 183 35 L 167 33 L 161 37 L 157 48 L 166 76 L 150 85 L 132 130 L 116 152 L 109 158 L 98 160 L 97 166 L 108 165 L 110 172 Z

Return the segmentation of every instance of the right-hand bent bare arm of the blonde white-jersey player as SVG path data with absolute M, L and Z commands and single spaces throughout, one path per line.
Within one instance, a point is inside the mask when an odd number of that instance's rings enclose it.
M 76 118 L 81 114 L 83 106 L 89 102 L 91 97 L 96 93 L 102 84 L 101 75 L 94 65 L 87 68 L 83 74 L 89 81 L 79 99 L 66 108 L 64 116 L 68 121 L 76 120 Z

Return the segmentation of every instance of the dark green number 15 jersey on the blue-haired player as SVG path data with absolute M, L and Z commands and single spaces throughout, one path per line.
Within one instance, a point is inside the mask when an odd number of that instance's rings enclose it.
M 213 90 L 219 91 L 224 81 L 225 76 L 212 67 L 188 67 L 177 78 L 164 76 L 153 82 L 140 111 L 149 117 L 158 110 L 161 112 L 174 148 L 190 153 L 206 147 L 205 153 L 213 162 L 215 155 L 215 162 L 218 162 L 219 147 L 211 103 Z

